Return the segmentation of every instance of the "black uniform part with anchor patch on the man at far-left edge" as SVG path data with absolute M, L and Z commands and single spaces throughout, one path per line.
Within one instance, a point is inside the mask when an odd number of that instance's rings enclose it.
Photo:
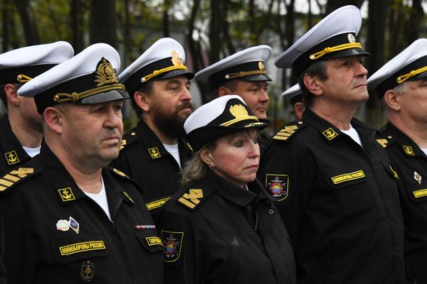
M 9 173 L 31 159 L 12 132 L 7 114 L 0 119 L 0 155 L 0 174 Z

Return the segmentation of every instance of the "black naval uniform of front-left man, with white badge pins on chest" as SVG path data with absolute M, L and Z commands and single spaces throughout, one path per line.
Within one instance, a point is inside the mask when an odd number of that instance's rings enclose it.
M 9 284 L 163 283 L 162 242 L 138 185 L 107 168 L 102 178 L 112 221 L 46 145 L 0 179 Z

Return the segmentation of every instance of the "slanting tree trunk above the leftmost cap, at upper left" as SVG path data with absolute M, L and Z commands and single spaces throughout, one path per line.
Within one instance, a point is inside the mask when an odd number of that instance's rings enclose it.
M 16 10 L 21 18 L 23 32 L 26 38 L 26 45 L 36 45 L 40 43 L 37 32 L 37 22 L 34 17 L 34 10 L 28 0 L 15 0 Z

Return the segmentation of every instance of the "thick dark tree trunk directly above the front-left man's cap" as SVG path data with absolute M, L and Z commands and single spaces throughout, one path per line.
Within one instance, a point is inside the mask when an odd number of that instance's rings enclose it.
M 108 43 L 117 48 L 115 0 L 90 0 L 90 44 Z

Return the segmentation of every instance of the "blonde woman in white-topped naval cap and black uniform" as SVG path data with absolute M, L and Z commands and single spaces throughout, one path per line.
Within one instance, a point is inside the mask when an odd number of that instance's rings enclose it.
M 236 95 L 186 120 L 195 155 L 157 219 L 165 283 L 295 283 L 288 233 L 255 179 L 266 126 Z

